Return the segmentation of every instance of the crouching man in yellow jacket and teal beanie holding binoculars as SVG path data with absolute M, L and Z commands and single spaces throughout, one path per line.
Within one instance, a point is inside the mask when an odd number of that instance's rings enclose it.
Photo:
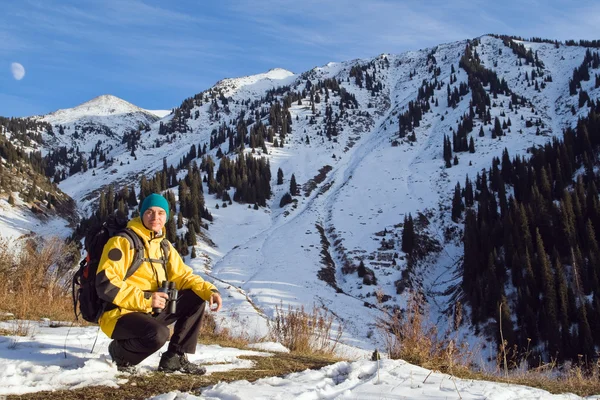
M 217 288 L 195 275 L 166 241 L 164 226 L 168 219 L 169 203 L 163 196 L 155 193 L 144 199 L 140 217 L 127 224 L 142 239 L 144 262 L 126 280 L 135 255 L 129 239 L 114 236 L 102 252 L 96 290 L 109 306 L 99 323 L 113 339 L 108 351 L 119 371 L 132 372 L 135 365 L 160 349 L 169 339 L 168 326 L 175 323 L 168 350 L 158 364 L 159 371 L 199 375 L 206 372 L 204 367 L 188 361 L 186 353 L 196 351 L 205 302 L 211 310 L 219 311 L 222 300 Z M 173 314 L 166 310 L 152 312 L 153 308 L 164 309 L 167 305 L 168 294 L 157 292 L 163 281 L 174 282 L 179 291 Z

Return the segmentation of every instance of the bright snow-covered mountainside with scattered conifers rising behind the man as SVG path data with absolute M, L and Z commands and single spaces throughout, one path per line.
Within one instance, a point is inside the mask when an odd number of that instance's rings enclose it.
M 268 141 L 266 153 L 254 149 L 271 166 L 273 193 L 267 207 L 223 207 L 221 199 L 205 190 L 214 221 L 203 236 L 210 241 L 198 245 L 201 257 L 188 261 L 228 294 L 221 321 L 225 326 L 260 336 L 267 331 L 265 316 L 273 316 L 280 304 L 316 305 L 336 316 L 343 341 L 369 348 L 377 341 L 375 322 L 385 315 L 382 310 L 403 307 L 403 288 L 420 288 L 436 318 L 450 305 L 446 289 L 459 282 L 463 251 L 462 225 L 449 215 L 456 183 L 490 168 L 505 148 L 511 156 L 527 156 L 529 148 L 561 137 L 564 128 L 587 115 L 587 106 L 580 107 L 578 96 L 569 92 L 586 48 L 513 43 L 539 62 L 526 61 L 500 38 L 484 36 L 329 63 L 302 74 L 275 69 L 225 79 L 184 100 L 160 121 L 112 96 L 39 118 L 54 127 L 54 136 L 47 137 L 49 149 L 78 147 L 89 156 L 100 142 L 110 158 L 110 163 L 98 162 L 60 182 L 84 213 L 98 189 L 138 184 L 140 175 L 161 170 L 163 159 L 177 166 L 191 146 L 206 145 L 215 160 L 218 152 L 234 158 L 228 141 L 219 140 L 220 130 L 239 132 L 240 122 L 248 131 L 259 121 L 277 129 L 291 125 L 287 134 L 274 132 L 282 147 Z M 491 84 L 483 85 L 490 96 L 486 110 L 491 121 L 474 117 L 467 133 L 474 152 L 455 151 L 458 164 L 446 168 L 444 137 L 452 139 L 474 107 L 468 89 L 473 78 L 459 67 L 467 45 L 509 90 L 492 95 Z M 591 71 L 592 77 L 598 73 Z M 582 81 L 580 90 L 591 99 L 600 97 L 593 78 Z M 277 107 L 285 112 L 278 114 Z M 411 121 L 405 134 L 399 128 L 401 117 Z M 506 123 L 497 137 L 492 133 L 496 117 Z M 140 124 L 144 129 L 132 155 L 121 138 Z M 64 126 L 64 134 L 57 126 Z M 248 147 L 245 151 L 252 152 Z M 278 169 L 283 185 L 276 184 Z M 280 199 L 289 191 L 292 174 L 301 195 L 282 208 Z M 233 190 L 230 194 L 233 198 Z M 409 213 L 428 238 L 429 251 L 410 266 L 400 240 Z M 358 276 L 361 261 L 371 279 Z

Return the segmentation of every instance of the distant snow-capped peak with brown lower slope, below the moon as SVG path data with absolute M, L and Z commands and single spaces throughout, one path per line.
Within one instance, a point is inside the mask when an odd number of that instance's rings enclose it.
M 30 224 L 21 224 L 19 228 L 11 222 L 9 225 L 14 226 L 4 232 L 27 233 L 28 226 L 35 226 L 38 218 L 43 222 L 57 213 L 65 218 L 65 223 L 77 221 L 74 202 L 51 182 L 58 183 L 68 174 L 87 169 L 87 160 L 82 154 L 94 153 L 99 143 L 107 148 L 126 147 L 124 138 L 149 130 L 159 119 L 111 95 L 98 96 L 74 108 L 44 116 L 2 119 L 0 155 L 5 176 L 0 186 L 6 200 L 33 212 L 29 214 Z M 8 174 L 21 178 L 9 179 Z

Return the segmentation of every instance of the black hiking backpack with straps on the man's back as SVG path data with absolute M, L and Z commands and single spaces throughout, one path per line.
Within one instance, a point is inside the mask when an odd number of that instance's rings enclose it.
M 131 265 L 127 269 L 127 273 L 123 280 L 126 280 L 137 271 L 144 261 L 150 261 L 144 258 L 144 243 L 142 239 L 131 229 L 127 228 L 127 219 L 111 215 L 108 219 L 96 229 L 92 229 L 85 238 L 86 256 L 79 263 L 79 269 L 73 275 L 71 292 L 73 295 L 73 310 L 75 319 L 79 316 L 93 323 L 98 323 L 100 316 L 104 311 L 116 308 L 114 304 L 110 304 L 102 300 L 96 292 L 96 272 L 98 264 L 102 257 L 104 246 L 108 239 L 113 236 L 121 236 L 129 240 L 130 248 L 134 249 L 134 257 Z M 159 261 L 166 267 L 166 260 L 169 258 L 169 243 L 165 238 L 160 242 L 162 248 L 163 259 L 151 261 Z M 79 309 L 79 310 L 78 310 Z M 79 311 L 79 312 L 78 312 Z

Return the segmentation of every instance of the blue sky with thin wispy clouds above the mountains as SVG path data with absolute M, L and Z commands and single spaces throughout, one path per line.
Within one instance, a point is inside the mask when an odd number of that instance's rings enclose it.
M 1 116 L 101 94 L 169 109 L 223 78 L 485 33 L 600 39 L 597 0 L 0 0 L 0 11 Z

